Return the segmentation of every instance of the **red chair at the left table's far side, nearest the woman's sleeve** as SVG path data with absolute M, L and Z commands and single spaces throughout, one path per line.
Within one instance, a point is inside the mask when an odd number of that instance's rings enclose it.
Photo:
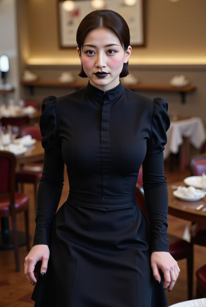
M 28 126 L 21 130 L 21 137 L 30 134 L 32 138 L 36 138 L 37 141 L 41 141 L 42 136 L 40 128 L 38 126 Z M 26 169 L 24 166 L 16 171 L 16 181 L 21 183 L 21 192 L 24 192 L 24 183 L 32 183 L 34 185 L 34 199 L 37 206 L 37 185 L 42 176 L 42 170 L 35 171 L 32 166 L 29 167 L 30 170 Z M 33 170 L 32 170 L 33 168 Z

